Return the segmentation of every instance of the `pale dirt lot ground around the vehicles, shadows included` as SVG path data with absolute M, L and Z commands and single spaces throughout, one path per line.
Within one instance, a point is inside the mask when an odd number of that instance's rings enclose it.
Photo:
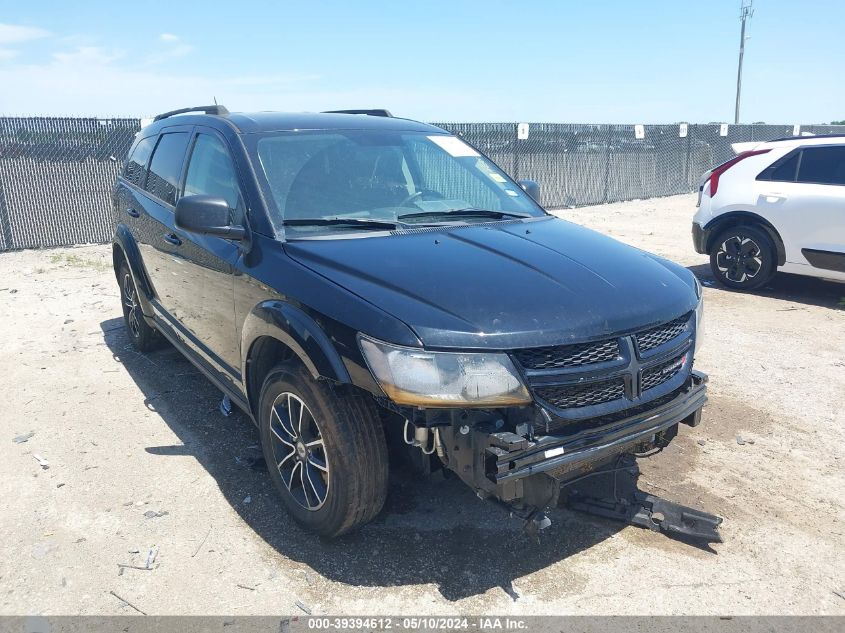
M 693 204 L 560 215 L 706 282 Z M 251 423 L 172 348 L 132 350 L 109 253 L 0 255 L 0 613 L 845 614 L 845 285 L 705 289 L 704 423 L 643 480 L 724 516 L 714 551 L 567 511 L 537 545 L 462 484 L 402 477 L 323 543 L 253 467 Z

